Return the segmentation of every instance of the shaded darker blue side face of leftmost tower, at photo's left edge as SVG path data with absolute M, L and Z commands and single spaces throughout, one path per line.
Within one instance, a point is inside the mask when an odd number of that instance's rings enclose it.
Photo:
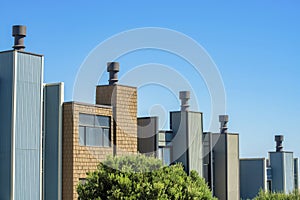
M 13 52 L 0 53 L 0 200 L 10 198 Z

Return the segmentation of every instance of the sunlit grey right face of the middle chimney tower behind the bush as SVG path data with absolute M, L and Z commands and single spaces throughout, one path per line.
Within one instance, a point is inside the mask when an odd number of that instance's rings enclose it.
M 203 176 L 202 137 L 202 113 L 188 112 L 189 170 L 197 171 L 200 176 Z

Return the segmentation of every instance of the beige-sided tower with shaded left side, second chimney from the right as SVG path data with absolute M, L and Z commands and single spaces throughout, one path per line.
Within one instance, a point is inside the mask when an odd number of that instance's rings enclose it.
M 214 196 L 240 199 L 239 135 L 227 132 L 227 115 L 220 115 L 220 133 L 203 135 L 203 173 Z

